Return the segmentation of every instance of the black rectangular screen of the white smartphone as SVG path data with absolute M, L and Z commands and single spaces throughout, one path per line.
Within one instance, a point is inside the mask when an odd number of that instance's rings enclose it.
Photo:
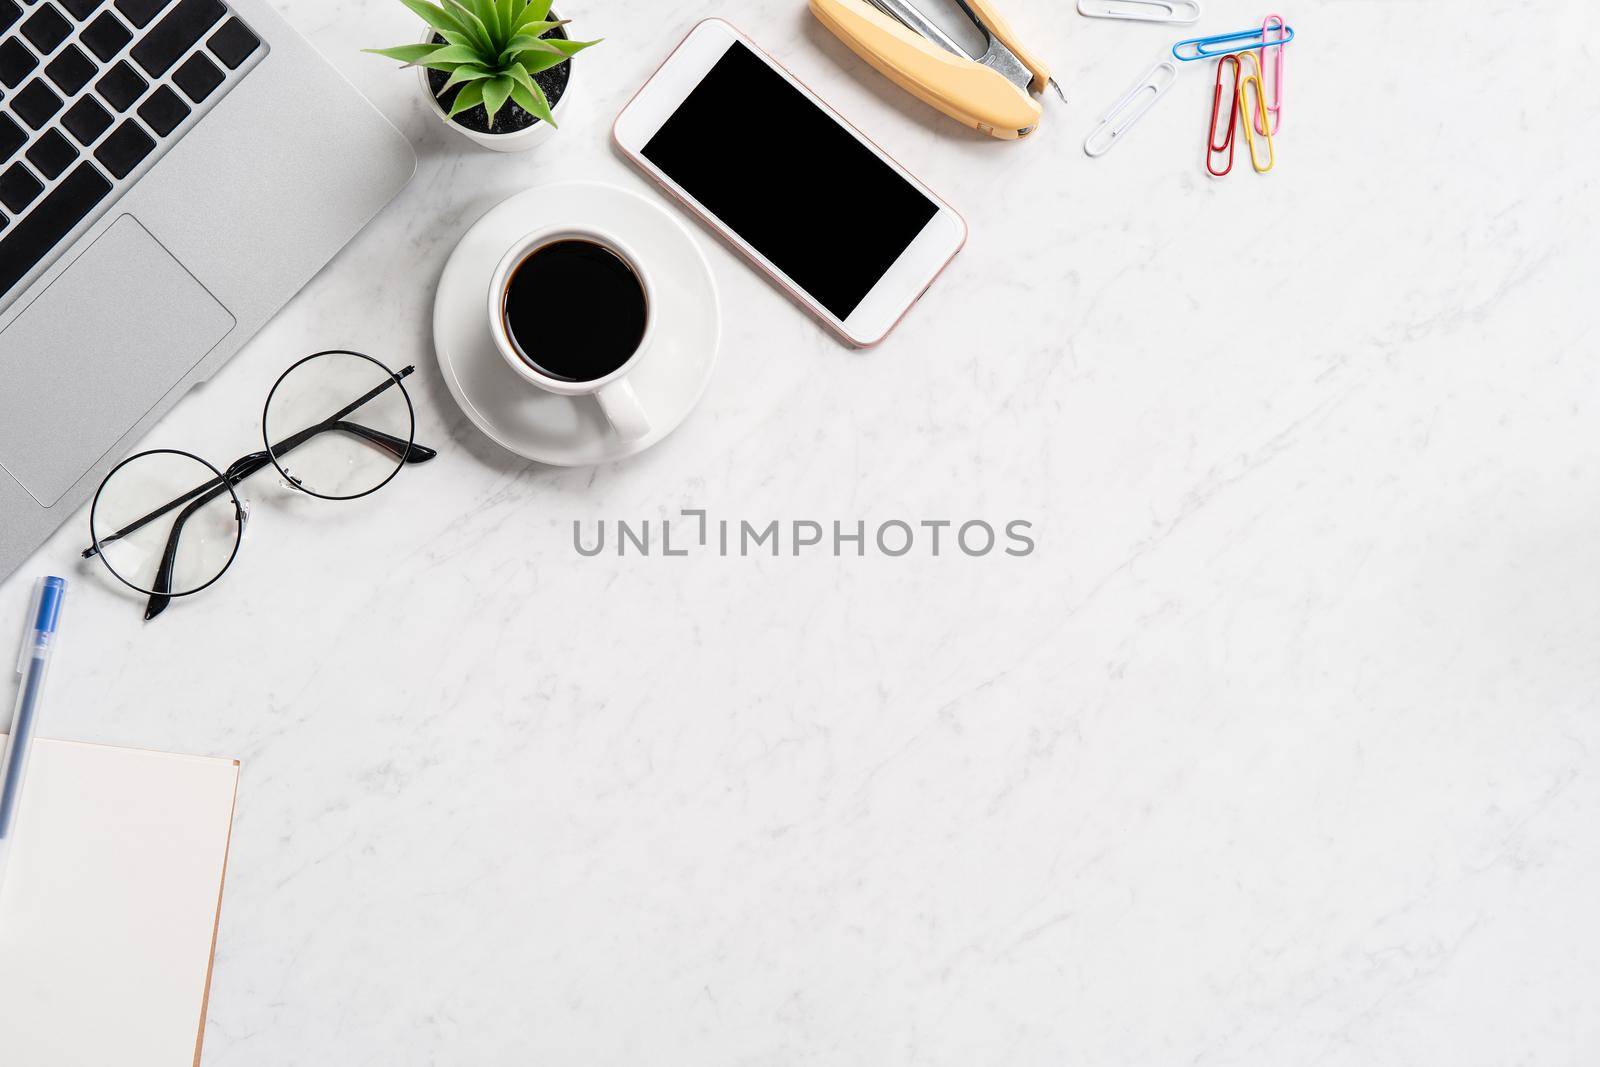
M 842 320 L 939 210 L 741 42 L 645 158 Z

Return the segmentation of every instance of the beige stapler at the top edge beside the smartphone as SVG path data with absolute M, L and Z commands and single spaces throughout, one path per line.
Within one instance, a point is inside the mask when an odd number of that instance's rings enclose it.
M 842 42 L 898 83 L 962 125 L 1014 141 L 1038 128 L 1034 99 L 1061 86 L 989 0 L 955 0 L 987 48 L 970 54 L 909 0 L 811 0 L 811 13 Z M 1066 94 L 1061 94 L 1066 99 Z

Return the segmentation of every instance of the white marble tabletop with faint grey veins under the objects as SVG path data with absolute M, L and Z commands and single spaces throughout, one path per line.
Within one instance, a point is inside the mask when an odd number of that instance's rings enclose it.
M 574 0 L 560 138 L 416 142 L 389 208 L 152 435 L 251 448 L 312 346 L 413 360 L 440 459 L 251 486 L 158 622 L 77 576 L 50 733 L 243 760 L 205 1064 L 1578 1064 L 1600 1056 L 1590 5 L 1304 0 L 1278 170 L 1206 179 L 1178 34 L 1006 0 L 1072 102 L 966 136 L 798 0 Z M 1206 0 L 1198 30 L 1264 11 Z M 701 410 L 616 467 L 456 411 L 434 280 L 499 198 L 645 182 L 622 102 L 723 14 L 973 238 L 882 349 L 726 250 Z M 579 558 L 571 523 L 1027 518 L 1027 558 Z M 24 576 L 0 584 L 21 611 Z

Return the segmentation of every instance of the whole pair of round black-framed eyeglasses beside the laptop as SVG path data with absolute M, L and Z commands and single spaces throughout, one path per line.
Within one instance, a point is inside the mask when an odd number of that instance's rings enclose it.
M 226 470 L 173 448 L 123 459 L 94 491 L 94 544 L 83 558 L 99 557 L 117 581 L 147 595 L 144 617 L 154 619 L 234 563 L 250 520 L 235 486 L 258 470 L 277 467 L 290 486 L 325 501 L 376 493 L 400 467 L 438 454 L 413 440 L 416 410 L 403 379 L 414 370 L 390 371 L 362 352 L 315 352 L 267 394 L 262 451 Z

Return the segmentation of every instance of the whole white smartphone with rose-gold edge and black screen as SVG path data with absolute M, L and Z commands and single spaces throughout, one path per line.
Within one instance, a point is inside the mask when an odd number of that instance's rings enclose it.
M 882 341 L 966 242 L 950 205 L 722 19 L 690 30 L 611 136 L 850 344 Z

